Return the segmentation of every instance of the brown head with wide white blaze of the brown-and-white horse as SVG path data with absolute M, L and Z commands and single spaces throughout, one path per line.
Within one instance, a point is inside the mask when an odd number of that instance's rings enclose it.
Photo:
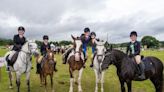
M 82 41 L 80 37 L 74 37 L 73 35 L 71 36 L 73 39 L 73 48 L 75 50 L 75 60 L 80 61 L 80 54 L 82 52 Z

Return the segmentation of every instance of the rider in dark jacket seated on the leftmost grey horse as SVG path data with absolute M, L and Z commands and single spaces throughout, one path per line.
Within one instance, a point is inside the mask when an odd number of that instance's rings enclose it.
M 14 63 L 18 57 L 19 51 L 21 50 L 22 46 L 26 43 L 26 38 L 24 37 L 25 28 L 23 26 L 18 27 L 18 34 L 14 35 L 13 42 L 14 47 L 12 48 L 11 54 L 8 56 L 8 65 L 10 63 Z

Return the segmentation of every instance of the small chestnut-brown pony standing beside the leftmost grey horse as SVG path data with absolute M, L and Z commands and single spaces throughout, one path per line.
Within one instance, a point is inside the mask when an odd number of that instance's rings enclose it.
M 51 81 L 51 90 L 54 92 L 53 88 L 53 74 L 54 74 L 54 52 L 47 49 L 47 54 L 43 57 L 41 62 L 41 72 L 40 72 L 40 81 L 41 85 L 45 82 L 45 92 L 47 92 L 47 76 L 50 76 Z

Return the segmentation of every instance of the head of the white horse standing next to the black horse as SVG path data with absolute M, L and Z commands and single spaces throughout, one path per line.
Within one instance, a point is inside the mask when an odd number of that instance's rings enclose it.
M 102 61 L 103 58 L 104 58 L 105 51 L 106 51 L 105 41 L 97 41 L 97 40 L 95 40 L 95 43 L 96 43 L 97 59 L 98 59 L 98 61 Z

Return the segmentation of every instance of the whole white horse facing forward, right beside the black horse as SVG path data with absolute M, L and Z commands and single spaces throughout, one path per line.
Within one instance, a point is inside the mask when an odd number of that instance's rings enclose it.
M 95 41 L 96 43 L 96 53 L 93 59 L 93 69 L 96 76 L 96 87 L 95 92 L 98 92 L 98 83 L 101 81 L 101 92 L 104 92 L 103 84 L 104 84 L 104 71 L 101 70 L 101 64 L 103 58 L 105 56 L 105 42 Z

